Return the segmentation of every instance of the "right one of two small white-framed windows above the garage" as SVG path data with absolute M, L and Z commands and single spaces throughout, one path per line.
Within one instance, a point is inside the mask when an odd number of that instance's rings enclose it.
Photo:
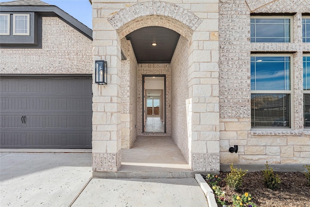
M 13 35 L 29 35 L 30 20 L 29 14 L 14 14 L 13 15 Z

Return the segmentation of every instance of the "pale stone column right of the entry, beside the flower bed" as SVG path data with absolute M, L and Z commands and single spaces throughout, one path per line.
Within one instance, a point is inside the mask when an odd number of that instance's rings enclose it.
M 193 13 L 218 13 L 218 3 L 198 3 Z M 189 47 L 187 108 L 191 117 L 191 166 L 219 171 L 218 16 L 205 15 Z

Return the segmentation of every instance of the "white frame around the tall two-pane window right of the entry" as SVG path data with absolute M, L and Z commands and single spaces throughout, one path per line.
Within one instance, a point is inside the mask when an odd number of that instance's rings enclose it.
M 294 55 L 278 53 L 252 53 L 251 57 L 290 57 L 290 90 L 251 90 L 252 94 L 289 94 L 290 95 L 290 127 L 251 127 L 252 130 L 292 130 L 294 129 Z M 251 114 L 252 117 L 252 114 Z

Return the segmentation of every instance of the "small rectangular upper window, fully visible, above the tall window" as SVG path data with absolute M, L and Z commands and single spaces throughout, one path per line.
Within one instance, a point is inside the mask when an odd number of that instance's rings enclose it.
M 251 42 L 290 42 L 291 18 L 251 18 Z

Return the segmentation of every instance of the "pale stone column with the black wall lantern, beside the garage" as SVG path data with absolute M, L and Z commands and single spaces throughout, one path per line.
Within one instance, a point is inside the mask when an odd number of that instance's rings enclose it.
M 93 62 L 108 63 L 108 85 L 93 83 L 93 171 L 115 172 L 121 166 L 121 47 L 104 8 L 93 2 Z

